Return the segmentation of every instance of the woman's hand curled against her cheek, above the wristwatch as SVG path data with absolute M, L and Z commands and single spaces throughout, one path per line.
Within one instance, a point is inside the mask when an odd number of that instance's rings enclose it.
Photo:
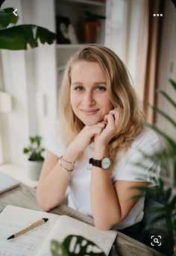
M 101 144 L 107 146 L 111 139 L 116 135 L 116 131 L 119 123 L 119 110 L 113 109 L 104 116 L 104 122 L 107 125 L 102 129 L 101 134 L 97 134 L 94 137 L 95 144 Z M 103 122 L 98 122 L 98 125 Z

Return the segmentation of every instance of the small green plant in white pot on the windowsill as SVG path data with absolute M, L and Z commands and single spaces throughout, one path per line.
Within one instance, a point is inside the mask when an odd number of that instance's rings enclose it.
M 29 137 L 30 145 L 23 149 L 24 154 L 28 154 L 28 176 L 33 180 L 38 180 L 43 166 L 43 152 L 45 149 L 41 146 L 42 137 L 36 135 Z

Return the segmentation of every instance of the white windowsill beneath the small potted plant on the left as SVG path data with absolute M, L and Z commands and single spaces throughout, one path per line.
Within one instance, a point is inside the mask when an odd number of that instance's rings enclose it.
M 28 185 L 29 187 L 37 187 L 38 181 L 33 181 L 31 178 L 28 178 L 27 169 L 25 166 L 4 163 L 0 165 L 0 171 Z

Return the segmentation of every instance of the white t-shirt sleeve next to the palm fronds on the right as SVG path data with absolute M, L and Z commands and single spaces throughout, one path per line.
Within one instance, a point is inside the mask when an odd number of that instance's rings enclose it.
M 145 181 L 149 185 L 157 184 L 160 177 L 160 162 L 145 155 L 153 155 L 160 150 L 160 140 L 154 131 L 143 131 L 131 144 L 128 152 L 123 152 L 112 172 L 113 182 L 122 181 Z M 119 160 L 119 162 L 118 162 Z

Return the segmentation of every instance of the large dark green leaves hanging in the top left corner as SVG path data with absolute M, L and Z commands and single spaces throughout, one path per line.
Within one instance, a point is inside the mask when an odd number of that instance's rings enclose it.
M 13 14 L 13 8 L 0 10 L 0 49 L 8 50 L 26 50 L 28 44 L 31 48 L 38 46 L 40 43 L 54 42 L 56 35 L 37 25 L 8 25 L 16 24 L 18 16 Z

